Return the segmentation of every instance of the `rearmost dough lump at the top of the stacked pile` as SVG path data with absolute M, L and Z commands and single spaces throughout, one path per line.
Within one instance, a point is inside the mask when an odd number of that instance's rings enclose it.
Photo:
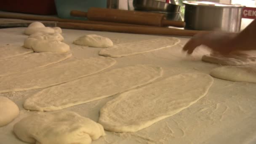
M 61 33 L 61 28 L 59 27 L 45 27 L 42 23 L 40 22 L 33 22 L 29 24 L 29 26 L 25 29 L 24 34 L 26 35 L 32 35 L 37 32 L 47 32 L 47 33 L 54 33 L 58 32 Z

